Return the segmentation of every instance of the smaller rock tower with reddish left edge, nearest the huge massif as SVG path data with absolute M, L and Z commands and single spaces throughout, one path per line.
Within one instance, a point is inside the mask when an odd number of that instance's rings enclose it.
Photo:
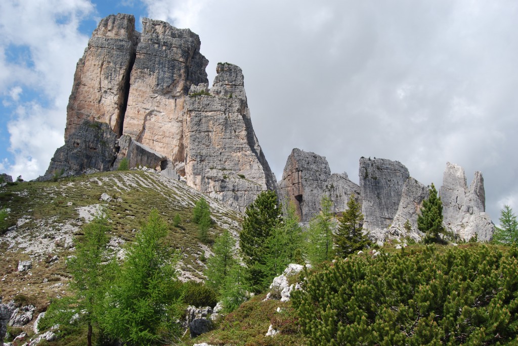
M 315 153 L 293 149 L 286 161 L 279 195 L 282 201 L 292 201 L 303 222 L 320 212 L 324 195 L 333 201 L 334 212 L 347 209 L 351 193 L 358 196 L 359 187 L 346 173 L 331 174 L 326 158 Z

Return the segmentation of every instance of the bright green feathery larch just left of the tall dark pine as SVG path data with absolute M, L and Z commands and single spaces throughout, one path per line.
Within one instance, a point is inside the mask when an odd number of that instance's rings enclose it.
M 234 258 L 236 240 L 228 230 L 225 230 L 216 238 L 212 247 L 213 256 L 207 259 L 207 269 L 204 274 L 207 277 L 205 284 L 215 292 L 220 292 L 230 269 L 237 263 Z

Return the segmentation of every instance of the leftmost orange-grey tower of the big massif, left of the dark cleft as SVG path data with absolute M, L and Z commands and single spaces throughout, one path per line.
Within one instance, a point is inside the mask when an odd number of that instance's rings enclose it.
M 138 37 L 130 14 L 112 14 L 99 22 L 77 63 L 65 141 L 84 120 L 109 124 L 121 134 Z

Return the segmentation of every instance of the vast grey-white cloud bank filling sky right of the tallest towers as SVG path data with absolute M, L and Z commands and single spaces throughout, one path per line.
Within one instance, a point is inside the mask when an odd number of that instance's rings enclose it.
M 518 200 L 518 6 L 512 0 L 143 0 L 243 69 L 252 122 L 280 179 L 293 147 L 357 180 L 361 156 L 428 185 L 447 161 L 484 174 L 486 207 Z

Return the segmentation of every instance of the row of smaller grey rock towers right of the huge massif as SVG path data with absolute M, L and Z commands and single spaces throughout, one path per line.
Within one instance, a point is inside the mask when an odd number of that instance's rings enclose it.
M 333 202 L 333 212 L 347 210 L 351 194 L 362 204 L 363 227 L 372 240 L 384 243 L 391 239 L 413 239 L 419 242 L 424 234 L 417 219 L 428 186 L 410 176 L 398 161 L 380 158 L 359 160 L 359 186 L 346 173 L 331 174 L 325 157 L 293 149 L 279 183 L 281 201 L 292 201 L 300 221 L 307 222 L 320 210 L 326 196 Z M 482 173 L 475 172 L 467 187 L 464 169 L 447 163 L 442 199 L 444 227 L 455 238 L 491 240 L 495 225 L 485 213 L 485 192 Z

